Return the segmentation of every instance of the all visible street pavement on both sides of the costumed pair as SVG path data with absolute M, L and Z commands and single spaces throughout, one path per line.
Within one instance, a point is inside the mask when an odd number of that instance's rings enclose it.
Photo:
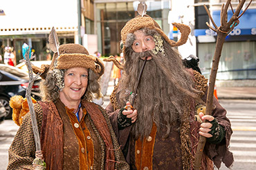
M 104 98 L 104 107 L 109 103 Z M 235 156 L 233 169 L 256 169 L 256 100 L 219 100 L 228 111 L 228 118 L 234 131 L 230 150 Z M 8 164 L 8 147 L 18 127 L 12 120 L 4 120 L 0 125 L 0 170 Z M 221 170 L 228 169 L 224 164 Z

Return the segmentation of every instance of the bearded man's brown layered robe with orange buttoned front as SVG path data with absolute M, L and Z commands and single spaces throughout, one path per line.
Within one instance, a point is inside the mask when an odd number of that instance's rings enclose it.
M 205 101 L 207 79 L 201 76 L 199 72 L 192 70 L 190 72 L 194 78 L 194 87 L 203 92 L 201 98 Z M 125 127 L 125 129 L 118 129 L 118 111 L 123 107 L 119 103 L 117 86 L 111 94 L 111 103 L 106 107 L 106 110 L 131 169 L 194 169 L 194 156 L 199 142 L 199 127 L 201 123 L 194 120 L 196 104 L 193 101 L 184 99 L 183 110 L 185 112 L 183 113 L 181 125 L 172 127 L 167 138 L 161 135 L 164 134 L 163 132 L 157 131 L 158 128 L 153 123 L 151 133 L 143 140 L 140 138 L 135 139 L 131 135 L 132 125 Z M 138 114 L 140 113 L 138 112 Z M 226 136 L 217 145 L 206 142 L 201 162 L 202 169 L 213 169 L 213 164 L 219 168 L 221 162 L 230 167 L 233 162 L 233 156 L 228 151 L 228 147 L 232 129 L 230 120 L 226 117 L 226 110 L 221 107 L 216 98 L 213 100 L 212 116 L 225 129 Z

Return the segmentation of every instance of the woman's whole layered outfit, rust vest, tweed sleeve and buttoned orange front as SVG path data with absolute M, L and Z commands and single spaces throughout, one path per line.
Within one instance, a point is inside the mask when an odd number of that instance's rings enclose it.
M 46 169 L 129 169 L 102 107 L 82 100 L 82 120 L 59 100 L 37 102 L 35 113 Z M 9 149 L 7 169 L 33 169 L 35 138 L 26 114 Z

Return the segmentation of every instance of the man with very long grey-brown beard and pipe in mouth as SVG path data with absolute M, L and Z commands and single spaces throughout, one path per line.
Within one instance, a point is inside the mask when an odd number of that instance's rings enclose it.
M 214 164 L 219 168 L 221 162 L 230 167 L 230 120 L 216 98 L 212 116 L 196 115 L 196 108 L 205 105 L 207 80 L 183 66 L 173 47 L 187 41 L 190 28 L 173 24 L 181 31 L 178 42 L 168 39 L 147 15 L 131 19 L 122 28 L 125 65 L 114 63 L 123 76 L 106 108 L 113 129 L 131 169 L 194 169 L 200 135 L 207 138 L 202 169 L 213 169 Z M 134 105 L 129 106 L 133 98 Z M 199 123 L 194 116 L 210 123 Z

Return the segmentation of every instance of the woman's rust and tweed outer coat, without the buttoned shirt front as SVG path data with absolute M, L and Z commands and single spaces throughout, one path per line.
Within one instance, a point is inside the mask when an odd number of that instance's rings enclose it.
M 35 105 L 37 125 L 39 130 L 41 129 L 42 151 L 46 161 L 46 168 L 56 170 L 82 169 L 83 167 L 80 167 L 79 144 L 75 140 L 76 136 L 73 133 L 72 125 L 71 130 L 70 128 L 69 130 L 68 128 L 65 129 L 65 131 L 63 129 L 65 120 L 62 117 L 63 115 L 60 116 L 59 114 L 59 109 L 63 107 L 62 105 L 55 105 L 53 102 L 39 102 Z M 129 169 L 129 165 L 122 156 L 122 151 L 104 109 L 85 100 L 82 101 L 82 108 L 86 108 L 87 113 L 91 117 L 90 121 L 94 131 L 92 133 L 98 134 L 102 140 L 103 147 L 100 147 L 101 153 L 95 153 L 95 155 L 103 153 L 103 160 L 98 160 L 100 162 L 98 163 L 100 169 Z M 65 108 L 62 109 L 65 110 Z M 66 132 L 66 130 L 69 132 Z M 73 138 L 71 140 L 73 144 L 70 143 L 69 145 L 74 147 L 69 148 L 69 150 L 65 147 L 68 146 L 68 143 L 64 139 L 64 134 L 68 138 Z M 68 164 L 64 162 L 66 158 L 64 150 L 69 151 L 68 154 L 71 156 L 71 159 L 68 159 Z M 9 149 L 8 169 L 32 169 L 34 158 L 35 139 L 30 114 L 27 114 Z

